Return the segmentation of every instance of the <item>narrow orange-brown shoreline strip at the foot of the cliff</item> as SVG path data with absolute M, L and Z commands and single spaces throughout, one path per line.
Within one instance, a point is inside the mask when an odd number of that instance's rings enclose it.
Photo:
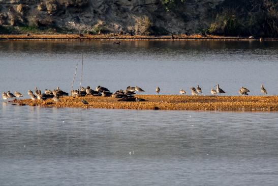
M 278 38 L 249 39 L 248 37 L 227 37 L 227 36 L 201 36 L 201 35 L 171 35 L 164 36 L 129 36 L 129 35 L 89 35 L 89 34 L 0 34 L 0 40 L 146 40 L 146 41 L 167 41 L 167 40 L 221 40 L 221 41 L 278 41 Z

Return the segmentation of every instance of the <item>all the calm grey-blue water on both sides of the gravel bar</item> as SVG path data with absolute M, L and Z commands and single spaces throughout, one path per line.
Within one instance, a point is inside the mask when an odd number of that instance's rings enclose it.
M 219 83 L 277 94 L 278 42 L 0 41 L 0 91 Z M 80 68 L 75 87 L 79 85 Z M 19 107 L 0 101 L 0 185 L 276 185 L 278 113 Z

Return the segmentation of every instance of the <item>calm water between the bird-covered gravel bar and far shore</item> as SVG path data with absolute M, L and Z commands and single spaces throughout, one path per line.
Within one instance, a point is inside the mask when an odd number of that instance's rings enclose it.
M 110 91 L 139 86 L 146 94 L 178 94 L 200 85 L 204 94 L 220 86 L 238 95 L 241 86 L 278 94 L 278 42 L 258 41 L 0 41 L 0 90 L 26 93 L 37 86 L 70 90 L 84 55 L 83 86 Z

